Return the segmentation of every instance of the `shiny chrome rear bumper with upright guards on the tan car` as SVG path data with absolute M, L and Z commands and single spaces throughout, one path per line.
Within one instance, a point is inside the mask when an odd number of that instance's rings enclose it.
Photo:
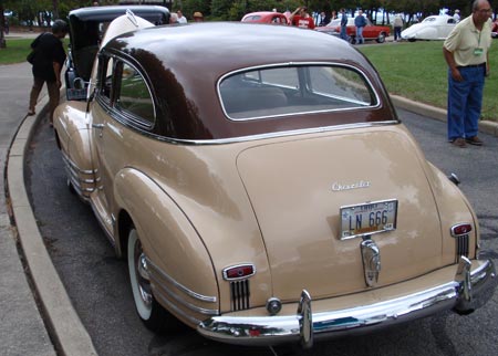
M 313 314 L 311 296 L 303 290 L 295 315 L 214 316 L 200 323 L 197 331 L 228 344 L 262 346 L 300 342 L 309 348 L 315 337 L 367 332 L 439 311 L 453 308 L 458 314 L 469 314 L 492 296 L 497 283 L 492 261 L 480 262 L 471 271 L 470 260 L 461 256 L 454 281 L 381 303 Z

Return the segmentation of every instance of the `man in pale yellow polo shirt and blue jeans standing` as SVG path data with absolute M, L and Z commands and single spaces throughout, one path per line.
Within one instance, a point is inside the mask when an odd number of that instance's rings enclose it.
M 483 145 L 477 132 L 489 74 L 491 13 L 487 0 L 475 0 L 471 15 L 458 22 L 443 45 L 448 63 L 448 140 L 461 148 Z

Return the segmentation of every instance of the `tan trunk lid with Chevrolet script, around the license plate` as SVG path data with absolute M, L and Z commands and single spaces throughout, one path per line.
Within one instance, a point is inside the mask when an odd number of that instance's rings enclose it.
M 372 234 L 377 286 L 437 268 L 442 233 L 425 160 L 402 125 L 253 146 L 237 166 L 268 253 L 273 295 L 313 299 L 366 289 L 360 243 L 340 238 L 340 208 L 397 200 L 397 228 Z

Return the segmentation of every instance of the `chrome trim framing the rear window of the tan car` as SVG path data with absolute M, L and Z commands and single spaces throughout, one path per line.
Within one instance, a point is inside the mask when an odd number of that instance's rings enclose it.
M 258 70 L 270 70 L 270 69 L 278 69 L 278 67 L 293 67 L 293 66 L 339 66 L 339 67 L 346 67 L 350 69 L 353 72 L 359 73 L 363 80 L 370 85 L 370 88 L 372 90 L 372 93 L 375 96 L 375 105 L 365 105 L 364 107 L 350 107 L 350 108 L 331 108 L 331 109 L 321 109 L 321 111 L 309 111 L 309 112 L 299 112 L 299 113 L 291 113 L 291 114 L 278 114 L 278 115 L 266 115 L 266 116 L 255 116 L 255 117 L 246 117 L 246 118 L 234 118 L 230 117 L 230 115 L 225 109 L 224 101 L 221 100 L 221 91 L 220 91 L 220 84 L 221 82 L 232 75 L 236 75 L 238 73 L 245 73 L 250 71 L 258 71 Z M 286 87 L 286 86 L 282 86 Z M 257 65 L 257 66 L 248 66 L 245 69 L 236 70 L 234 72 L 229 72 L 225 75 L 222 75 L 218 82 L 216 83 L 216 91 L 218 94 L 218 101 L 220 103 L 221 109 L 228 119 L 232 122 L 250 122 L 253 119 L 262 119 L 262 118 L 273 118 L 273 117 L 288 117 L 288 116 L 295 116 L 295 115 L 307 115 L 307 114 L 318 114 L 318 113 L 334 113 L 334 112 L 349 112 L 349 111 L 361 111 L 365 108 L 377 108 L 381 106 L 381 100 L 377 94 L 377 92 L 374 90 L 374 86 L 372 85 L 372 81 L 370 81 L 369 76 L 365 74 L 364 71 L 361 71 L 359 67 L 353 66 L 347 63 L 338 63 L 338 62 L 284 62 L 284 63 L 276 63 L 270 65 Z

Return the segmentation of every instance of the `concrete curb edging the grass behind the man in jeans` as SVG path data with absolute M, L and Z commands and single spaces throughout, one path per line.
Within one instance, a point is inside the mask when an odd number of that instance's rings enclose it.
M 395 107 L 404 108 L 408 112 L 416 113 L 423 116 L 433 117 L 440 122 L 446 122 L 447 111 L 444 108 L 414 102 L 397 95 L 391 95 L 391 101 L 393 102 L 393 105 Z M 479 132 L 498 137 L 498 123 L 480 121 Z

